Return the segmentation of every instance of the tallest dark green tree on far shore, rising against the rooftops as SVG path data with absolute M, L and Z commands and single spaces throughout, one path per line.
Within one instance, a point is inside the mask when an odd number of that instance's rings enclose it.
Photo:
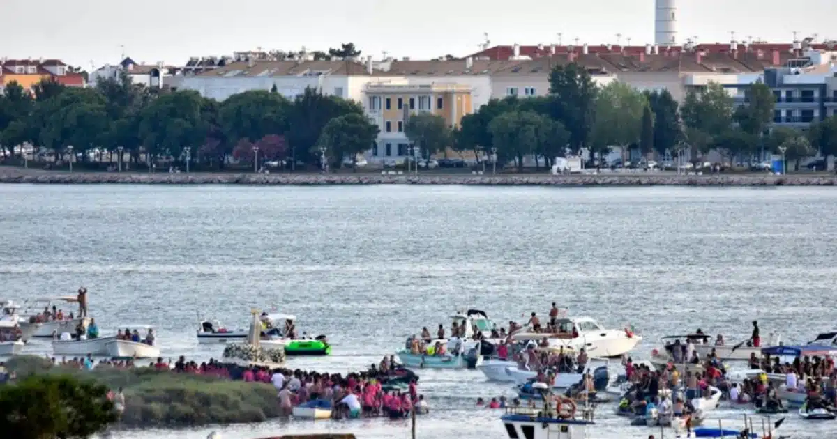
M 573 63 L 552 69 L 549 93 L 552 119 L 560 120 L 567 127 L 570 145 L 579 151 L 590 143 L 598 86 L 586 69 Z

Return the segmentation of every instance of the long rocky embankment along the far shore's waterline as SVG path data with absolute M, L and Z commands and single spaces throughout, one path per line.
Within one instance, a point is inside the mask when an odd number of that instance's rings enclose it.
M 159 184 L 159 185 L 468 185 L 468 186 L 835 186 L 833 175 L 598 174 L 573 176 L 475 176 L 425 174 L 223 174 L 115 173 L 36 171 L 0 168 L 0 183 L 23 184 Z

